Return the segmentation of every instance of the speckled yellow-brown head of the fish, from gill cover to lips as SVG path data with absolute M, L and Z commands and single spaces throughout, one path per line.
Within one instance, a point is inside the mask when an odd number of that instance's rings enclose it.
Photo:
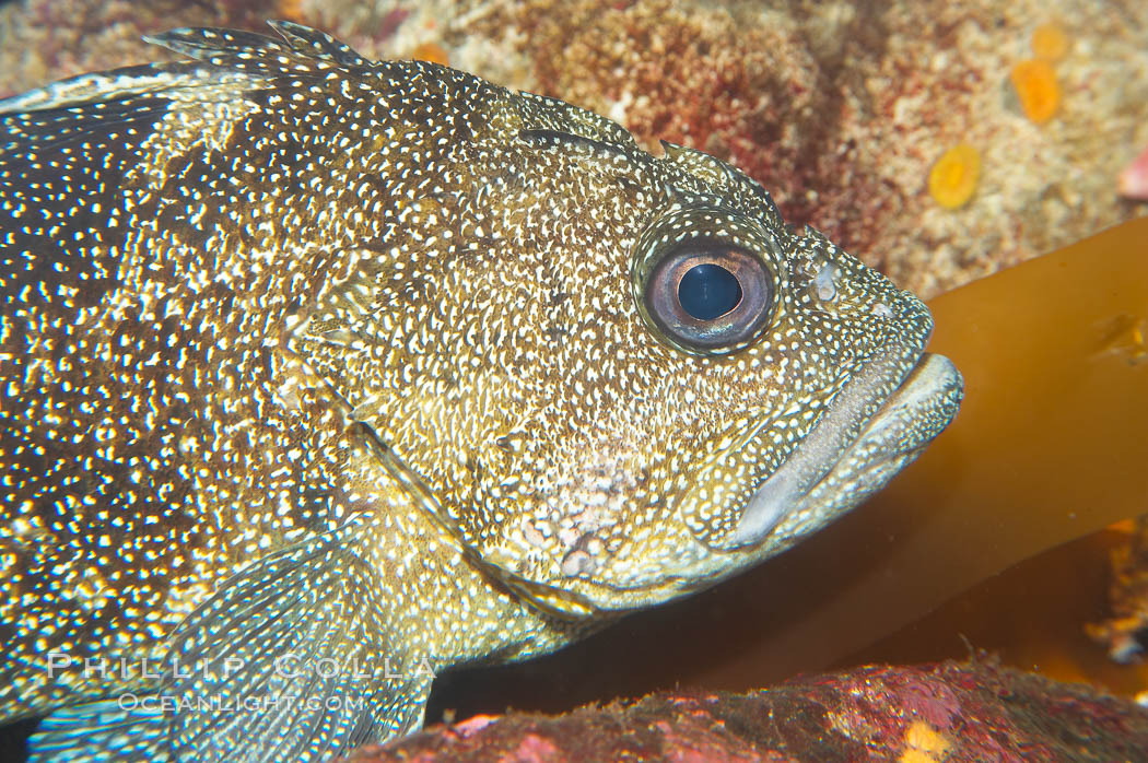
M 924 304 L 755 181 L 559 101 L 491 100 L 437 226 L 408 226 L 365 290 L 358 333 L 389 338 L 347 396 L 521 595 L 582 617 L 713 585 L 955 415 Z

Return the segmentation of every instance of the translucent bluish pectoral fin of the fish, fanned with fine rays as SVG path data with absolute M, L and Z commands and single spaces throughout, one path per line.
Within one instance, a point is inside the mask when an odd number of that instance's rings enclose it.
M 349 523 L 225 582 L 172 633 L 161 688 L 131 711 L 57 711 L 32 760 L 320 761 L 418 727 L 433 675 L 389 675 L 403 655 L 387 654 L 372 570 L 351 551 L 366 531 Z

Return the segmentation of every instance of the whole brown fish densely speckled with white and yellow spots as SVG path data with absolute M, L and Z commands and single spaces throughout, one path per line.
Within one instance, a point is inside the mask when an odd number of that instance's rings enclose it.
M 926 309 L 727 164 L 313 30 L 0 103 L 0 717 L 327 760 L 858 504 Z

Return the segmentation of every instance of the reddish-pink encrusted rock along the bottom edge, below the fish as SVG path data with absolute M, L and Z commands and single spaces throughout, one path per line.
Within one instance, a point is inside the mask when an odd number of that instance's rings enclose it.
M 1148 752 L 1148 710 L 986 662 L 866 667 L 730 694 L 697 690 L 560 716 L 433 726 L 389 761 L 1119 761 Z

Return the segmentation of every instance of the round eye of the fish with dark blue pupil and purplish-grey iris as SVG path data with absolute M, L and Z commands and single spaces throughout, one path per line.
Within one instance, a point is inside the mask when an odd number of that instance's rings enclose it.
M 773 273 L 760 257 L 729 243 L 687 241 L 650 270 L 645 307 L 675 344 L 701 351 L 744 347 L 773 312 Z

